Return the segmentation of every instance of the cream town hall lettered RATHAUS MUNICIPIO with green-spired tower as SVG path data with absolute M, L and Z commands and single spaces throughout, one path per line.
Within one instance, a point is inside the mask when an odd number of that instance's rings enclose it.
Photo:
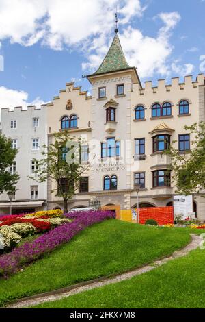
M 92 97 L 68 83 L 43 107 L 48 143 L 55 132 L 65 129 L 85 141 L 81 157 L 90 162 L 90 168 L 83 173 L 69 209 L 87 207 L 91 201 L 118 214 L 120 209 L 136 208 L 136 185 L 140 186 L 140 207 L 172 205 L 175 188 L 169 156 L 163 152 L 172 141 L 179 153 L 191 150 L 193 136 L 184 126 L 205 121 L 204 75 L 195 80 L 186 76 L 183 83 L 178 77 L 171 84 L 160 79 L 158 86 L 145 82 L 143 87 L 135 67 L 128 66 L 116 33 L 98 71 L 87 79 Z M 10 115 L 3 110 L 2 124 L 8 119 L 5 114 Z M 3 134 L 14 138 L 3 126 Z M 21 151 L 18 158 L 23 158 Z M 51 193 L 56 184 L 48 180 L 46 186 L 47 207 L 63 208 L 62 200 Z M 25 190 L 19 193 L 25 199 Z M 204 206 L 204 198 L 193 195 L 193 211 L 200 220 L 205 220 Z

